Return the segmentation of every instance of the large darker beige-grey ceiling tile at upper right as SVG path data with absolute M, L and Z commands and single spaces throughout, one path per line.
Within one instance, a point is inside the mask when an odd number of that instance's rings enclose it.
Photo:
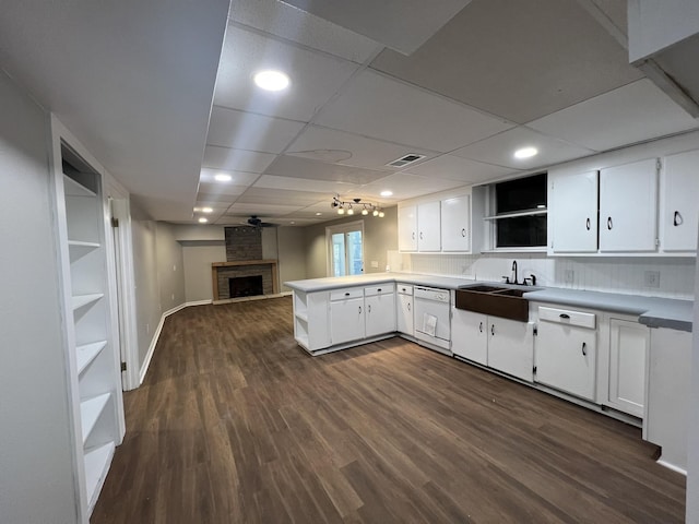
M 474 0 L 410 57 L 371 68 L 524 123 L 641 79 L 579 0 Z

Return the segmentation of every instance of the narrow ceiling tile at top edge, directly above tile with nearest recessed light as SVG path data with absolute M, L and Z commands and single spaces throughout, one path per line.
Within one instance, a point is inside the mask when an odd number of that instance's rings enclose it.
M 230 19 L 359 63 L 383 47 L 366 36 L 277 0 L 236 0 L 230 4 Z

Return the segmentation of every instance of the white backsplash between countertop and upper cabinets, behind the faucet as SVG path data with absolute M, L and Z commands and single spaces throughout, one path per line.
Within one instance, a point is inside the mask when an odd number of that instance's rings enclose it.
M 517 260 L 519 281 L 536 276 L 542 286 L 672 298 L 694 298 L 696 259 L 548 258 L 543 253 L 422 254 L 389 251 L 391 271 L 503 282 Z M 650 273 L 649 273 L 650 272 Z M 659 277 L 659 278 L 656 278 Z M 657 281 L 657 287 L 648 285 Z

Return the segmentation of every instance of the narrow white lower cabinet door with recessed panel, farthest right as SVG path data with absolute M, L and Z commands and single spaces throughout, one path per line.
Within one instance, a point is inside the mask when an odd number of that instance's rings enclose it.
M 643 417 L 649 329 L 638 322 L 609 319 L 608 405 Z

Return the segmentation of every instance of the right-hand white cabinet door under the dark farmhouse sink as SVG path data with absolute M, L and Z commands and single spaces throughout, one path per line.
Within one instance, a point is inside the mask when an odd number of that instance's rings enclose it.
M 528 382 L 534 380 L 532 324 L 488 317 L 488 366 Z

